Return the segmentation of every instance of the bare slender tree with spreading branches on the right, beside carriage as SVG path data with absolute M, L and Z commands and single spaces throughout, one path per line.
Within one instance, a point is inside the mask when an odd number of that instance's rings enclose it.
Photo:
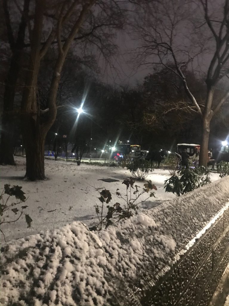
M 190 110 L 202 118 L 200 165 L 207 166 L 210 123 L 229 96 L 228 85 L 218 95 L 218 87 L 229 73 L 229 1 L 144 1 L 135 22 L 140 41 L 139 65 L 159 64 L 182 80 Z M 209 61 L 205 60 L 209 59 Z M 197 68 L 202 60 L 205 73 L 205 103 L 201 106 L 186 79 L 186 69 Z M 175 68 L 167 65 L 173 61 Z M 221 86 L 222 88 L 222 86 Z

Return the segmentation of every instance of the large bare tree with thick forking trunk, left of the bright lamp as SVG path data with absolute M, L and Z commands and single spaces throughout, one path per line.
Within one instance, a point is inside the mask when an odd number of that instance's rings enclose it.
M 7 3 L 7 0 L 4 1 Z M 29 3 L 28 0 L 24 0 L 24 3 L 26 1 Z M 75 42 L 74 52 L 80 55 L 92 54 L 91 46 L 94 44 L 94 49 L 102 50 L 104 57 L 108 57 L 109 48 L 110 54 L 112 53 L 113 29 L 121 28 L 123 24 L 124 8 L 121 8 L 120 2 L 115 0 L 71 2 L 31 0 L 31 2 L 27 15 L 18 5 L 21 15 L 26 17 L 28 42 L 24 42 L 24 39 L 22 41 L 29 57 L 28 64 L 24 68 L 26 73 L 20 117 L 26 150 L 25 176 L 30 180 L 36 180 L 45 179 L 45 137 L 56 118 L 61 72 L 72 43 Z M 10 25 L 10 18 L 8 21 Z M 12 29 L 10 32 L 13 33 Z M 9 35 L 9 38 L 12 35 Z M 42 109 L 38 95 L 38 79 L 42 60 L 50 48 L 53 48 L 56 56 L 53 59 L 51 81 L 47 84 L 47 107 Z

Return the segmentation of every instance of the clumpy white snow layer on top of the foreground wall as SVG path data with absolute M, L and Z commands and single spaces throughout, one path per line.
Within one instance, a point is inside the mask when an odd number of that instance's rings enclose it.
M 228 197 L 225 177 L 106 231 L 73 222 L 11 241 L 1 249 L 0 305 L 137 305 L 138 292 L 173 265 Z

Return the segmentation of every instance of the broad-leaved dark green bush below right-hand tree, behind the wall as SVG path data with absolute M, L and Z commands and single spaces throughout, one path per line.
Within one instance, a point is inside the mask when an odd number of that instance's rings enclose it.
M 190 192 L 211 183 L 209 174 L 210 171 L 205 167 L 181 169 L 177 171 L 177 175 L 165 180 L 165 192 L 173 192 L 176 196 Z

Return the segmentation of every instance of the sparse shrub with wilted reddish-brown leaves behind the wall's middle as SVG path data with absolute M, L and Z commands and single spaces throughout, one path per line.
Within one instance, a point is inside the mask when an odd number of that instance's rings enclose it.
M 89 230 L 102 230 L 106 229 L 109 225 L 113 223 L 117 223 L 122 219 L 127 219 L 133 216 L 133 214 L 137 215 L 138 211 L 138 204 L 145 202 L 150 197 L 155 197 L 154 192 L 150 192 L 151 190 L 157 190 L 156 186 L 152 184 L 151 181 L 147 181 L 146 184 L 144 184 L 143 190 L 140 192 L 138 190 L 139 186 L 134 185 L 135 181 L 133 179 L 126 179 L 122 182 L 122 184 L 126 185 L 126 195 L 123 197 L 121 193 L 116 190 L 116 195 L 118 199 L 122 199 L 122 204 L 119 202 L 116 202 L 113 206 L 107 205 L 105 208 L 105 203 L 108 204 L 111 202 L 111 192 L 107 189 L 104 189 L 100 192 L 100 197 L 98 198 L 101 205 L 94 205 L 96 210 L 96 215 L 98 218 L 98 223 L 96 224 L 94 222 L 94 226 L 90 227 Z M 134 189 L 134 191 L 132 190 Z M 150 195 L 147 197 L 147 199 L 138 202 L 139 198 L 145 193 L 149 193 Z M 104 215 L 104 211 L 106 210 L 106 213 Z

